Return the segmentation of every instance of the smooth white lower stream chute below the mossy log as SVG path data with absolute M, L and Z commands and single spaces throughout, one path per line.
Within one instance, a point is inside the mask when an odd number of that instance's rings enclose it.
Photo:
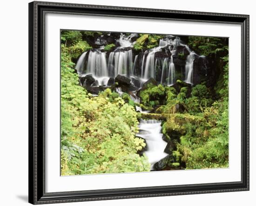
M 146 141 L 148 150 L 144 153 L 148 157 L 152 170 L 156 162 L 168 155 L 164 152 L 167 142 L 162 140 L 161 121 L 141 119 L 139 129 L 140 131 L 137 136 L 142 137 Z

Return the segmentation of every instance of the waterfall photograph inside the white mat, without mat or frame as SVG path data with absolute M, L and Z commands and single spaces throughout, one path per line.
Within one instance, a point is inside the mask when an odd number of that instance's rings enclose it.
M 229 38 L 61 30 L 61 175 L 229 167 Z

